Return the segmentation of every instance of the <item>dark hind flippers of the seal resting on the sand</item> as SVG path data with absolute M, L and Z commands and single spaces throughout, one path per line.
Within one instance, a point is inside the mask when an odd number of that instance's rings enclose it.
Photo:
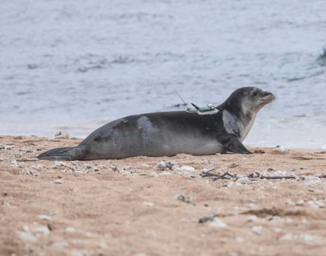
M 87 150 L 82 146 L 75 147 L 58 147 L 53 150 L 46 151 L 37 156 L 40 160 L 82 160 L 87 154 Z

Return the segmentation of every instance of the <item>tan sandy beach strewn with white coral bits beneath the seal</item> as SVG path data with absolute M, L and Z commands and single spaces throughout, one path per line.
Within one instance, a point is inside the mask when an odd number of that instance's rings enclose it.
M 325 254 L 325 152 L 36 159 L 80 141 L 0 137 L 0 255 Z

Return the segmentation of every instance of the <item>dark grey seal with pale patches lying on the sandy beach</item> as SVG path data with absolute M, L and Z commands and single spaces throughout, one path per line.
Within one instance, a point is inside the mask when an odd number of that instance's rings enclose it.
M 218 112 L 198 115 L 186 111 L 132 115 L 105 124 L 78 146 L 49 150 L 46 160 L 121 159 L 136 156 L 252 154 L 242 144 L 257 112 L 275 95 L 255 87 L 234 91 Z

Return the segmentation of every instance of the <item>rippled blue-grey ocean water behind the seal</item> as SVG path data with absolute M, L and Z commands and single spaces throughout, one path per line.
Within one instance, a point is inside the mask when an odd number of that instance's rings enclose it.
M 326 150 L 325 0 L 2 0 L 0 135 L 277 95 L 245 140 Z

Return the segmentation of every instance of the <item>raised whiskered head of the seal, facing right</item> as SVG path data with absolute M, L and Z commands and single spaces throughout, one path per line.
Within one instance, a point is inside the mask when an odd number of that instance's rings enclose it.
M 275 95 L 271 92 L 255 87 L 243 87 L 234 91 L 222 105 L 237 112 L 241 111 L 245 115 L 250 115 L 256 114 L 264 105 L 274 100 Z

